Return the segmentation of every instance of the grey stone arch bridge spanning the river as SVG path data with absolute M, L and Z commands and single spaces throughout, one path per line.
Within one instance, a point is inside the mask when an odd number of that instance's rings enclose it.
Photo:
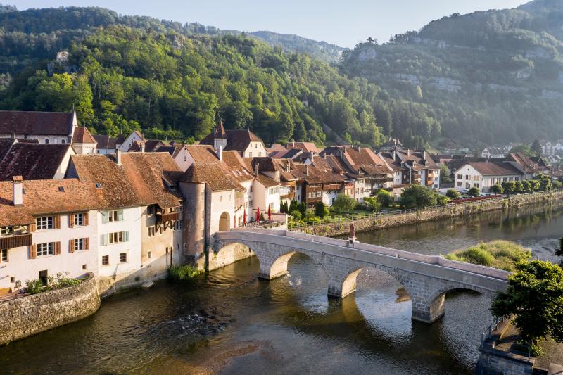
M 387 272 L 403 285 L 412 300 L 412 319 L 432 323 L 444 314 L 445 293 L 466 289 L 493 296 L 505 291 L 509 272 L 365 243 L 312 236 L 287 230 L 233 229 L 214 236 L 215 253 L 232 244 L 248 246 L 260 260 L 262 279 L 287 273 L 291 255 L 303 253 L 317 262 L 329 279 L 328 294 L 353 293 L 365 268 Z

